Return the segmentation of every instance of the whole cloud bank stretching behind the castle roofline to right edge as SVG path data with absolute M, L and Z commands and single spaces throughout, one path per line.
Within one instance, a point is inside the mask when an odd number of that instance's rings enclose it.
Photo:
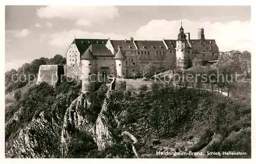
M 215 39 L 220 51 L 240 50 L 251 51 L 251 34 L 249 21 L 230 21 L 226 23 L 215 22 L 214 24 L 204 21 L 182 20 L 184 32 L 190 32 L 190 39 L 197 39 L 197 31 L 204 28 L 206 39 Z M 161 40 L 177 39 L 180 29 L 180 20 L 168 21 L 165 19 L 151 20 L 141 26 L 135 32 L 126 35 L 115 33 L 87 32 L 79 29 L 62 31 L 50 35 L 50 44 L 67 47 L 76 38 L 98 39 L 125 39 L 133 36 L 135 40 Z

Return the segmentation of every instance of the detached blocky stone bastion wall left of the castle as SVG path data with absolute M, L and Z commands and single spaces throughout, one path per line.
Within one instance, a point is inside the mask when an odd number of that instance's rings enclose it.
M 40 84 L 41 82 L 47 82 L 50 85 L 55 86 L 58 81 L 58 65 L 40 65 L 37 82 L 36 84 Z

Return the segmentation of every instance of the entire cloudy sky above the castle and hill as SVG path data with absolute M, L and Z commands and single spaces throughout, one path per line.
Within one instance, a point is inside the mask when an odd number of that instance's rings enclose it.
M 246 6 L 6 6 L 6 71 L 40 57 L 65 56 L 76 38 L 191 39 L 205 29 L 220 51 L 251 50 Z

